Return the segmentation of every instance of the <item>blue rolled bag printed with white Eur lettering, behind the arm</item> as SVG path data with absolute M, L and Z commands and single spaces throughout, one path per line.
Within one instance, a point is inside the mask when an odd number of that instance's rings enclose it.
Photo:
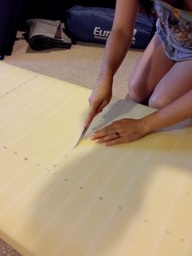
M 102 7 L 75 6 L 67 11 L 66 33 L 76 41 L 105 44 L 111 32 L 115 10 Z M 151 41 L 155 20 L 138 13 L 131 47 L 144 49 Z

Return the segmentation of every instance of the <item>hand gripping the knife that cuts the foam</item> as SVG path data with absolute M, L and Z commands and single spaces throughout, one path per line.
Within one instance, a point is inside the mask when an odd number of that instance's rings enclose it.
M 85 120 L 84 127 L 89 126 L 90 122 L 103 108 L 109 104 L 112 96 L 112 78 L 98 79 L 94 90 L 89 96 L 89 113 Z

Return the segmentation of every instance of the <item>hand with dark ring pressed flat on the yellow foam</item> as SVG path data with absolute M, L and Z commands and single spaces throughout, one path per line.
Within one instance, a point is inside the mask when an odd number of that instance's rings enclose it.
M 119 143 L 129 143 L 147 135 L 146 124 L 142 119 L 121 119 L 98 130 L 91 136 L 98 143 L 112 146 Z

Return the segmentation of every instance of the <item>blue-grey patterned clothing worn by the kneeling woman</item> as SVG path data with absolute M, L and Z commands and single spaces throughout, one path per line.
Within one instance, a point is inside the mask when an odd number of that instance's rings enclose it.
M 157 34 L 168 58 L 174 61 L 192 60 L 192 13 L 154 0 L 158 15 Z

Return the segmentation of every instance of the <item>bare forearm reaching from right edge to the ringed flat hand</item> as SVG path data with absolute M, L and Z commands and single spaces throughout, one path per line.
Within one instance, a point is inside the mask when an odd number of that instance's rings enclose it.
M 175 125 L 190 117 L 192 117 L 192 90 L 172 102 L 172 104 L 143 117 L 142 122 L 146 134 L 148 134 L 155 130 Z

